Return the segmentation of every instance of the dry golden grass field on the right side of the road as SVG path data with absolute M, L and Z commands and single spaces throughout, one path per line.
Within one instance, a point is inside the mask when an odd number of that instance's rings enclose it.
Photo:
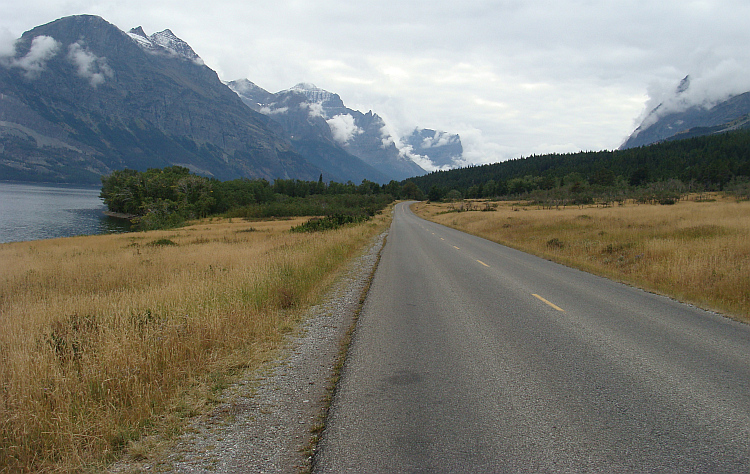
M 717 196 L 672 206 L 450 208 L 413 207 L 435 222 L 750 321 L 750 202 Z

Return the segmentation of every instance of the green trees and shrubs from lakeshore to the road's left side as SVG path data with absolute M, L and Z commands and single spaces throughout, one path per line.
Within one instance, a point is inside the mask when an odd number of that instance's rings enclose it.
M 363 180 L 324 182 L 297 179 L 219 181 L 182 166 L 146 171 L 119 170 L 102 177 L 108 210 L 132 219 L 138 230 L 168 228 L 213 215 L 268 218 L 288 216 L 372 216 L 401 197 L 416 198 L 413 183 L 380 185 Z M 346 217 L 331 222 L 356 221 Z

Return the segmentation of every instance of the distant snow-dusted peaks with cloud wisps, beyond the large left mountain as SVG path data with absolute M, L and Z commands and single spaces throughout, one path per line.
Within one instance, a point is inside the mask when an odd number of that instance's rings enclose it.
M 277 93 L 270 93 L 247 79 L 232 81 L 228 85 L 253 110 L 279 122 L 298 148 L 304 148 L 298 144 L 300 141 L 306 145 L 333 145 L 391 179 L 403 180 L 425 174 L 415 159 L 434 167 L 451 166 L 463 152 L 460 137 L 444 132 L 417 129 L 412 134 L 416 138 L 410 136 L 399 140 L 388 132 L 379 115 L 350 109 L 338 94 L 313 84 L 301 83 Z M 449 136 L 450 143 L 436 139 L 433 147 L 422 146 L 430 133 L 431 139 L 438 135 L 441 138 Z M 419 146 L 412 145 L 412 141 Z M 415 153 L 416 149 L 420 152 Z

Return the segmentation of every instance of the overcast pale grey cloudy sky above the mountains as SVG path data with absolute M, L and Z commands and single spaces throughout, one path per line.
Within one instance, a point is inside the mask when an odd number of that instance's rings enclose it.
M 748 0 L 4 1 L 0 44 L 83 13 L 169 28 L 222 80 L 459 133 L 472 163 L 615 149 L 687 74 L 696 103 L 750 90 Z

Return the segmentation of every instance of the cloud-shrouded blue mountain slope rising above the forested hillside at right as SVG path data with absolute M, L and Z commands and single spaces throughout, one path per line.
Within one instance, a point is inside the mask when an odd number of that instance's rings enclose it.
M 620 149 L 750 128 L 750 92 L 708 107 L 696 103 L 686 76 L 671 97 L 654 108 Z

